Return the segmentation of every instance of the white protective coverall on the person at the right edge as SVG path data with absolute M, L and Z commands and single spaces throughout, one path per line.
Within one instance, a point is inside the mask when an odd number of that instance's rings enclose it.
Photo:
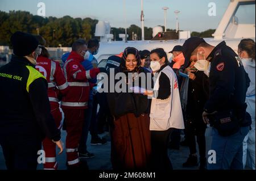
M 245 71 L 250 78 L 250 87 L 246 92 L 246 111 L 251 115 L 251 130 L 243 140 L 243 167 L 246 165 L 255 170 L 255 60 L 242 59 Z

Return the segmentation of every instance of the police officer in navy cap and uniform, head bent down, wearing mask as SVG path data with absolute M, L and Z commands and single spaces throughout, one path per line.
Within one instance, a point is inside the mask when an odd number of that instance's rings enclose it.
M 183 44 L 184 67 L 196 61 L 195 67 L 207 71 L 210 63 L 210 97 L 205 103 L 203 120 L 213 125 L 212 150 L 216 163 L 208 169 L 243 169 L 242 141 L 249 132 L 245 96 L 249 77 L 237 54 L 222 41 L 216 47 L 200 37 Z M 196 65 L 197 64 L 197 65 Z

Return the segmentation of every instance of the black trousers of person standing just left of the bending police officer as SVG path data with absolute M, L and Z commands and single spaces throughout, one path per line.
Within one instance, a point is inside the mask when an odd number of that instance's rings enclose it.
M 199 155 L 201 158 L 204 158 L 205 151 L 206 151 L 206 148 L 205 148 L 206 147 L 206 144 L 205 144 L 206 125 L 188 120 L 186 129 L 187 129 L 186 133 L 187 133 L 187 141 L 188 141 L 190 154 L 196 153 L 196 142 L 197 142 L 199 146 Z

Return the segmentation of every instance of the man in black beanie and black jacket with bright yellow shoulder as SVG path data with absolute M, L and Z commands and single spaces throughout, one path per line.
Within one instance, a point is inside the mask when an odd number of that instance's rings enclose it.
M 38 40 L 17 31 L 11 44 L 11 62 L 0 68 L 0 145 L 7 169 L 36 169 L 45 136 L 63 151 L 60 131 L 50 112 L 46 78 L 35 69 Z

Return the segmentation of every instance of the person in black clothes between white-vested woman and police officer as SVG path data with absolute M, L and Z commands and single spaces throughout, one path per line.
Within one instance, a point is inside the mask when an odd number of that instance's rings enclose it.
M 186 71 L 189 74 L 187 105 L 185 107 L 185 133 L 189 146 L 189 157 L 183 163 L 183 167 L 197 166 L 196 142 L 200 155 L 200 170 L 206 169 L 206 142 L 205 129 L 202 113 L 204 104 L 209 99 L 209 78 L 204 71 L 195 70 L 195 61 L 191 62 Z M 196 137 L 196 138 L 195 138 Z

